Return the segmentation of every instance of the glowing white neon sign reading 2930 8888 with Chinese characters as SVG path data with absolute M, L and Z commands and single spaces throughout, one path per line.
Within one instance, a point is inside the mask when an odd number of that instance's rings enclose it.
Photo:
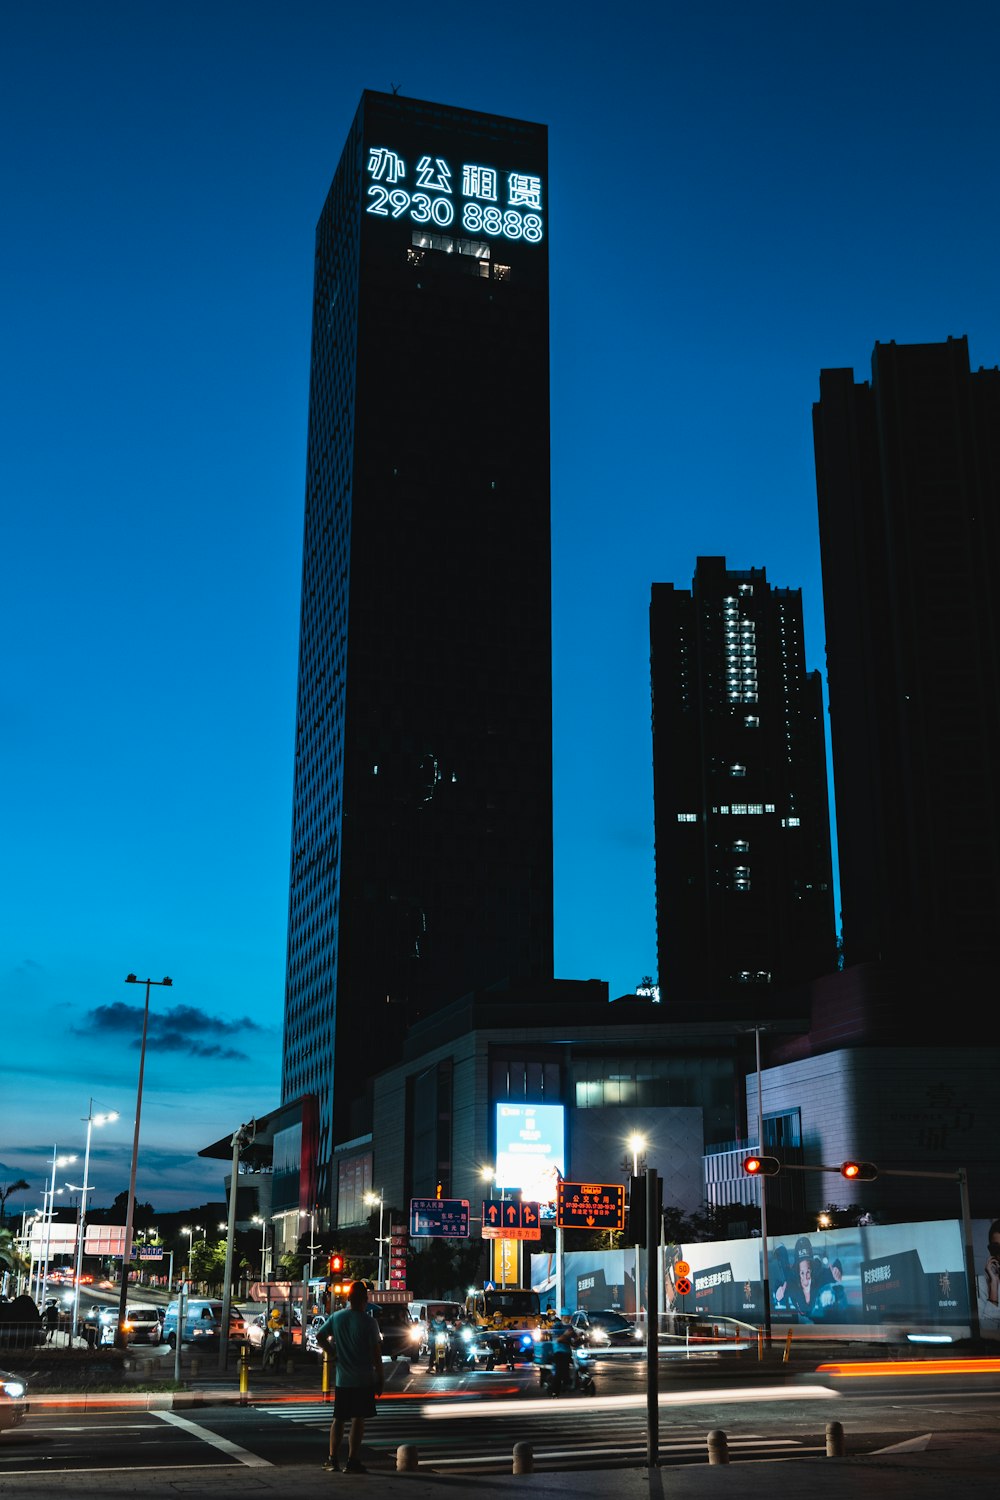
M 387 146 L 369 147 L 364 171 L 370 178 L 366 213 L 378 218 L 406 214 L 414 224 L 442 230 L 457 218 L 468 234 L 528 244 L 544 236 L 541 177 L 534 172 L 499 171 L 481 162 L 454 168 L 442 156 L 406 160 Z

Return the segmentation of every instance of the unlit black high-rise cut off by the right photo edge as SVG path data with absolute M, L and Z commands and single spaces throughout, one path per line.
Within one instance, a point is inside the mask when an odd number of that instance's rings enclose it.
M 972 374 L 964 338 L 877 344 L 871 382 L 822 372 L 814 435 L 846 963 L 904 978 L 900 1020 L 921 990 L 981 1008 L 1000 930 L 1000 374 Z

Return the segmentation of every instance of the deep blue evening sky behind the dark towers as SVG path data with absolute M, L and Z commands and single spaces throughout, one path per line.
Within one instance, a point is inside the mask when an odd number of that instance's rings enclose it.
M 556 972 L 619 994 L 657 963 L 649 585 L 763 566 L 823 668 L 820 368 L 1000 360 L 999 54 L 985 0 L 3 8 L 12 1209 L 91 1096 L 96 1202 L 127 1182 L 129 970 L 174 978 L 142 1200 L 220 1196 L 192 1154 L 277 1101 L 313 228 L 361 88 L 550 129 Z

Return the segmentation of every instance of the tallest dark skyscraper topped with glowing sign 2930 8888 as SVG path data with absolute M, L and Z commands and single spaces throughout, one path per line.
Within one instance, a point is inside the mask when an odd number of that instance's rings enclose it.
M 547 135 L 361 99 L 316 231 L 285 1098 L 552 978 Z

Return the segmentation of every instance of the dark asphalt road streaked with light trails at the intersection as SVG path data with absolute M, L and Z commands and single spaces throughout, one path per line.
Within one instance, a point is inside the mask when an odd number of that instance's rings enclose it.
M 405 1362 L 387 1365 L 387 1395 L 366 1432 L 372 1472 L 394 1468 L 396 1448 L 414 1443 L 421 1468 L 439 1474 L 510 1473 L 514 1443 L 528 1440 L 535 1467 L 642 1464 L 646 1407 L 642 1366 L 598 1362 L 598 1394 L 541 1396 L 529 1368 L 435 1378 Z M 256 1380 L 252 1406 L 186 1410 L 36 1406 L 28 1422 L 0 1436 L 0 1488 L 18 1478 L 102 1470 L 271 1468 L 322 1462 L 330 1407 L 295 1384 Z M 706 1462 L 706 1436 L 727 1432 L 732 1462 L 825 1454 L 826 1424 L 843 1424 L 849 1454 L 871 1454 L 928 1434 L 996 1430 L 1000 1364 L 988 1376 L 811 1378 L 778 1383 L 745 1366 L 712 1368 L 661 1392 L 664 1466 Z

